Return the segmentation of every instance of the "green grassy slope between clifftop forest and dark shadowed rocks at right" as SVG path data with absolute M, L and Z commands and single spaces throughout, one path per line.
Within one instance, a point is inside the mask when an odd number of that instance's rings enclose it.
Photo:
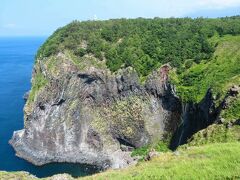
M 214 36 L 209 41 L 216 45 L 212 60 L 195 64 L 173 78 L 185 101 L 199 102 L 209 87 L 223 98 L 229 87 L 240 84 L 240 36 Z

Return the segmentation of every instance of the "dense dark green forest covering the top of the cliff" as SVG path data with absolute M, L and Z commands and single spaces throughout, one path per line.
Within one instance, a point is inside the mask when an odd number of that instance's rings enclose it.
M 185 61 L 187 67 L 208 61 L 214 52 L 208 39 L 215 34 L 240 34 L 240 17 L 74 21 L 58 29 L 40 48 L 37 58 L 70 50 L 79 58 L 92 54 L 106 59 L 111 71 L 132 66 L 145 77 L 164 63 L 179 68 Z

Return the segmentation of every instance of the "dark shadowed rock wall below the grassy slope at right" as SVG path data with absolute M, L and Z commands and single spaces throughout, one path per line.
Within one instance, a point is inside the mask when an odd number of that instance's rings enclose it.
M 201 102 L 183 104 L 181 113 L 182 123 L 174 133 L 171 149 L 176 149 L 179 145 L 186 144 L 195 133 L 212 124 L 225 124 L 226 126 L 237 124 L 237 119 L 225 122 L 225 119 L 221 117 L 221 113 L 224 110 L 228 110 L 229 104 L 238 99 L 239 92 L 239 86 L 232 86 L 225 97 L 216 105 L 216 99 L 214 99 L 212 90 L 209 89 Z

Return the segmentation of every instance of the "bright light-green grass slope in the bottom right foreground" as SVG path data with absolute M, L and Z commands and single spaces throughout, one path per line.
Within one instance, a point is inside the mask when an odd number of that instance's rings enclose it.
M 240 143 L 219 143 L 164 153 L 148 162 L 83 179 L 239 179 Z

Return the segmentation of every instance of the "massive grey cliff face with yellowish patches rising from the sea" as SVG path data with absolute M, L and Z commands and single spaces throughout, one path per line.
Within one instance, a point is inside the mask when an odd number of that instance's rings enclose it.
M 17 156 L 35 165 L 125 167 L 133 162 L 129 150 L 177 129 L 180 110 L 161 73 L 153 72 L 142 85 L 132 68 L 111 73 L 104 60 L 85 55 L 78 62 L 64 52 L 36 61 L 25 127 L 10 143 Z

